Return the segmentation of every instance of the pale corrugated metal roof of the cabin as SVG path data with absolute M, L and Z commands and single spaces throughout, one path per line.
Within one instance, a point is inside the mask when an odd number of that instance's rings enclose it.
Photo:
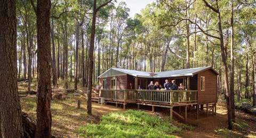
M 206 67 L 197 67 L 197 68 L 187 68 L 182 70 L 173 70 L 173 71 L 165 71 L 165 72 L 143 72 L 143 71 L 135 71 L 135 70 L 126 70 L 123 68 L 109 68 L 108 71 L 101 74 L 99 77 L 107 77 L 107 76 L 115 76 L 121 74 L 129 74 L 137 77 L 147 77 L 147 78 L 158 78 L 158 77 L 178 77 L 178 76 L 193 76 L 199 72 L 205 70 L 213 70 L 211 66 Z M 213 70 L 216 74 L 215 70 Z

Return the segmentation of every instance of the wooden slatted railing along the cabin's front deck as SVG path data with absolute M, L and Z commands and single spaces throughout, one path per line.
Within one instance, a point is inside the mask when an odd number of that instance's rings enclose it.
M 138 100 L 148 102 L 196 102 L 194 90 L 101 90 L 101 97 L 113 100 Z

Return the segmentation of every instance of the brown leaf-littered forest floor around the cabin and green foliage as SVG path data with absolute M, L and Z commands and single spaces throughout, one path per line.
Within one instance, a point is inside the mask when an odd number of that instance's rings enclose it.
M 85 92 L 85 89 L 80 91 Z M 71 99 L 71 100 L 70 100 Z M 92 102 L 93 115 L 86 114 L 86 100 L 82 100 L 81 109 L 77 109 L 77 98 L 73 97 L 69 100 L 52 100 L 52 135 L 56 137 L 79 137 L 77 129 L 80 126 L 88 123 L 99 123 L 102 115 L 114 112 L 123 111 L 122 106 L 115 105 L 100 105 L 97 102 Z M 21 97 L 22 111 L 26 111 L 31 118 L 36 118 L 35 95 Z M 136 109 L 137 106 L 129 105 L 127 109 Z M 148 114 L 170 115 L 166 108 L 155 108 L 155 113 L 152 113 L 151 107 L 141 106 L 141 109 Z M 182 111 L 181 111 L 182 114 Z M 243 111 L 236 110 L 236 123 L 233 125 L 233 131 L 227 129 L 227 109 L 222 103 L 217 104 L 216 115 L 209 114 L 206 116 L 206 111 L 199 111 L 199 119 L 196 119 L 196 111 L 188 111 L 187 121 L 183 121 L 178 116 L 174 116 L 179 122 L 193 125 L 195 128 L 192 131 L 182 131 L 180 134 L 175 134 L 177 137 L 256 137 L 256 117 L 246 114 Z

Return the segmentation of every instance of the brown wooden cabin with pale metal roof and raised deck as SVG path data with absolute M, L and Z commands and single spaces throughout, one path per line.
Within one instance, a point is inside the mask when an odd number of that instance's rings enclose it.
M 187 106 L 194 105 L 197 109 L 206 108 L 212 113 L 216 112 L 217 102 L 217 76 L 218 73 L 211 67 L 197 67 L 183 70 L 173 70 L 165 72 L 143 72 L 126 70 L 122 68 L 109 68 L 101 74 L 99 79 L 100 98 L 93 98 L 99 102 L 113 102 L 125 105 L 136 103 L 140 105 L 170 108 L 170 116 L 177 114 L 183 119 L 187 119 Z M 175 80 L 177 86 L 183 83 L 184 90 L 148 90 L 150 81 L 159 82 L 162 86 L 165 80 Z M 140 85 L 140 90 L 138 90 Z M 185 107 L 185 117 L 173 110 L 173 107 Z

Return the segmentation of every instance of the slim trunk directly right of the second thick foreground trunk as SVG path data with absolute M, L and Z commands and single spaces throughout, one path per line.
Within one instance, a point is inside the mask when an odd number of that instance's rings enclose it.
M 55 58 L 55 42 L 54 42 L 54 22 L 52 19 L 52 28 L 51 28 L 51 38 L 52 38 L 52 60 L 51 60 L 51 67 L 52 67 L 52 83 L 53 87 L 57 86 L 57 71 L 56 71 L 56 58 Z

